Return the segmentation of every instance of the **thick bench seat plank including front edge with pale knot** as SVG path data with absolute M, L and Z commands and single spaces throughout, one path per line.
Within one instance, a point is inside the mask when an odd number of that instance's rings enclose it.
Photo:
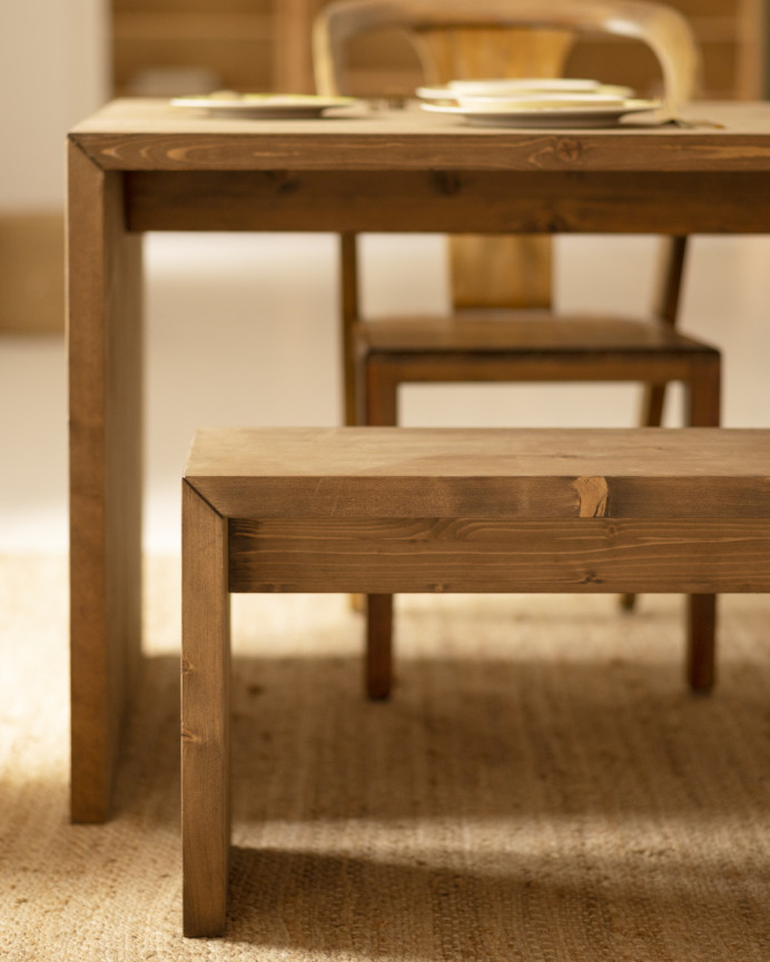
M 770 430 L 210 428 L 185 478 L 227 517 L 770 517 Z

